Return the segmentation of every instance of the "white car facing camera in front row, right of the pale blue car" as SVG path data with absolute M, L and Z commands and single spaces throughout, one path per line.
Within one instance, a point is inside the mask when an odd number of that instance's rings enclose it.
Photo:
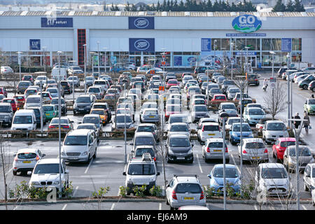
M 261 163 L 255 172 L 255 188 L 268 196 L 287 196 L 292 189 L 290 177 L 281 163 Z

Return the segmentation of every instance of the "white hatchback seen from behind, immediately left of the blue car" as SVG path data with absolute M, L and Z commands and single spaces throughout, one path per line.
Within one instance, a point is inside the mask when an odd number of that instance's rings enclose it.
M 222 138 L 222 132 L 218 123 L 202 123 L 202 127 L 197 132 L 198 140 L 205 142 L 210 138 Z

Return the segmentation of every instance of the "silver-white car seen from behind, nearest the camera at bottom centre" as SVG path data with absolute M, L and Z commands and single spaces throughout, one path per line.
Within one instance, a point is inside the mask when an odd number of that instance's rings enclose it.
M 167 183 L 166 197 L 171 210 L 186 205 L 206 207 L 206 197 L 197 175 L 174 174 Z

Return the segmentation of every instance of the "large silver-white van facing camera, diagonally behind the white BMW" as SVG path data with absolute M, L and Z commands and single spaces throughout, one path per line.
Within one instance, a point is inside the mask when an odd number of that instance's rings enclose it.
M 79 129 L 66 134 L 62 144 L 62 160 L 87 162 L 97 155 L 97 136 L 94 130 Z

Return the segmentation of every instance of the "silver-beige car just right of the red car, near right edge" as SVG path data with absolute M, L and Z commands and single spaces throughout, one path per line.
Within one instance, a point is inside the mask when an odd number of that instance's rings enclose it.
M 299 146 L 299 161 L 298 161 L 298 169 L 305 169 L 307 164 L 314 162 L 313 155 L 311 155 L 311 151 L 307 146 Z M 288 146 L 283 155 L 283 165 L 286 167 L 288 171 L 296 169 L 297 161 L 295 154 L 295 146 Z

